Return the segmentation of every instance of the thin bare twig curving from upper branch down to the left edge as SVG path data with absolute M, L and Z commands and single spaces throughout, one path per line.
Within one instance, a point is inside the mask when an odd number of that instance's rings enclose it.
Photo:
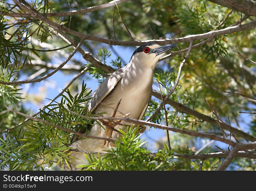
M 61 63 L 54 71 L 50 72 L 49 74 L 47 74 L 47 75 L 45 75 L 45 76 L 43 76 L 41 78 L 34 79 L 34 80 L 24 80 L 24 81 L 16 81 L 16 82 L 3 82 L 3 81 L 0 81 L 0 83 L 1 84 L 5 84 L 5 85 L 34 83 L 34 82 L 40 82 L 42 80 L 45 80 L 46 78 L 49 78 L 50 76 L 55 74 L 59 69 L 61 69 L 74 56 L 74 54 L 77 52 L 79 47 L 83 44 L 83 41 L 84 41 L 84 39 L 81 39 L 81 41 L 79 42 L 77 47 L 72 51 L 72 53 L 68 56 L 68 58 L 63 63 Z

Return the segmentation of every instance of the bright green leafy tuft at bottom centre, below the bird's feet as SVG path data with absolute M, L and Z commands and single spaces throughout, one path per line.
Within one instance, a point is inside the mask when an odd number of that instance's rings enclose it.
M 88 165 L 86 170 L 172 170 L 174 163 L 168 148 L 159 150 L 154 156 L 143 148 L 146 143 L 141 140 L 141 135 L 136 135 L 138 128 L 126 128 L 121 131 L 123 136 L 115 142 L 109 153 L 96 158 L 94 155 L 85 155 Z

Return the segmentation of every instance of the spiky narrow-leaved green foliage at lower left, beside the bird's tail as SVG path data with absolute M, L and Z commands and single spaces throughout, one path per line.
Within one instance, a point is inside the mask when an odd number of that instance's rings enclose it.
M 62 94 L 61 101 L 49 104 L 40 110 L 39 119 L 78 131 L 90 131 L 91 120 L 78 117 L 65 107 L 80 115 L 88 115 L 86 103 L 90 100 L 91 91 L 82 84 L 79 94 L 72 96 L 69 90 Z M 64 107 L 65 105 L 65 107 Z M 71 144 L 72 134 L 51 125 L 33 121 L 26 128 L 16 128 L 1 139 L 1 168 L 10 170 L 44 170 L 53 164 L 68 164 L 69 156 L 65 152 Z M 57 161 L 56 161 L 57 159 Z

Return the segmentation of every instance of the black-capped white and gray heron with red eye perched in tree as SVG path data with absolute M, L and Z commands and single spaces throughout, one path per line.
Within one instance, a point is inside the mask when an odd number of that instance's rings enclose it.
M 131 56 L 129 63 L 112 74 L 110 74 L 93 92 L 92 99 L 88 103 L 88 110 L 91 114 L 104 113 L 104 117 L 124 117 L 142 119 L 151 99 L 154 68 L 159 59 L 177 44 L 166 44 L 160 46 L 156 43 L 145 43 L 138 47 Z M 115 108 L 117 108 L 115 110 Z M 126 116 L 127 116 L 126 115 Z M 108 131 L 109 128 L 102 128 L 102 122 L 94 122 L 90 135 L 111 138 L 118 136 L 115 131 Z M 128 125 L 128 122 L 122 122 Z M 116 125 L 115 129 L 123 128 Z M 73 142 L 70 147 L 86 151 L 103 152 L 115 146 L 106 144 L 104 140 L 80 139 Z M 78 170 L 77 165 L 88 164 L 86 157 L 81 152 L 72 152 L 72 157 L 76 158 L 71 163 L 72 170 Z

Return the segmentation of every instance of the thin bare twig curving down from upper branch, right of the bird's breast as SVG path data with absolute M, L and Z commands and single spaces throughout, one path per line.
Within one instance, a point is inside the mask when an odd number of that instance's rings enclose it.
M 176 87 L 177 87 L 177 85 L 179 83 L 179 78 L 180 78 L 180 75 L 181 75 L 182 66 L 184 65 L 186 59 L 189 57 L 189 53 L 191 51 L 192 44 L 193 44 L 193 41 L 190 41 L 189 49 L 187 51 L 187 54 L 186 54 L 184 60 L 182 61 L 182 63 L 180 64 L 180 66 L 179 66 L 179 71 L 178 71 L 178 74 L 177 74 L 177 78 L 176 78 L 175 84 L 174 84 L 173 88 L 170 90 L 170 92 L 168 93 L 168 95 L 163 99 L 163 102 L 165 102 L 173 94 L 173 92 L 175 91 L 175 89 L 176 89 Z M 163 107 L 163 103 L 160 104 L 159 108 L 155 111 L 155 113 L 152 116 L 150 116 L 146 121 L 150 121 L 150 120 L 154 119 L 157 116 L 157 114 L 160 112 L 162 107 Z

